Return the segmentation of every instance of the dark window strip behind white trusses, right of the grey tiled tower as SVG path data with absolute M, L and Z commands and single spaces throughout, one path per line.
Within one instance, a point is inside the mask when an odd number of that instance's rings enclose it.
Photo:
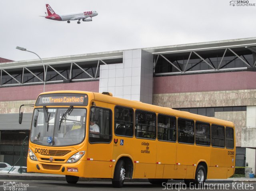
M 232 50 L 246 63 L 251 66 L 253 65 L 254 60 L 252 51 L 244 47 L 232 48 Z M 194 52 L 191 52 L 191 54 L 190 52 L 164 54 L 164 57 L 155 55 L 155 60 L 157 60 L 155 73 L 175 73 L 180 71 L 188 72 L 248 67 L 246 63 L 244 63 L 230 50 L 227 49 L 225 55 L 224 52 L 225 49 L 196 51 L 200 57 Z M 170 64 L 166 59 L 172 64 Z

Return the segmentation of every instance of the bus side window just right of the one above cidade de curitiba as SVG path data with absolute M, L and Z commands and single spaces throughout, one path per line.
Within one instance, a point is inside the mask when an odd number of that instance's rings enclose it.
M 158 140 L 176 142 L 176 118 L 158 114 Z

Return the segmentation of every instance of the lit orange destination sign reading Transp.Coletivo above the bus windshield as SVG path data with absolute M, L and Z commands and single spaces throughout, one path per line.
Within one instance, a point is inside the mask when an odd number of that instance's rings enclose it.
M 50 105 L 88 105 L 88 96 L 84 94 L 46 94 L 40 95 L 36 100 L 36 106 Z

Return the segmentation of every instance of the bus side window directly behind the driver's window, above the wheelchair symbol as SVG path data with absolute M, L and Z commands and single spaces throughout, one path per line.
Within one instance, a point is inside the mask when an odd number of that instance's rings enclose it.
M 116 106 L 114 110 L 115 116 L 115 134 L 120 136 L 133 136 L 133 114 L 131 108 Z

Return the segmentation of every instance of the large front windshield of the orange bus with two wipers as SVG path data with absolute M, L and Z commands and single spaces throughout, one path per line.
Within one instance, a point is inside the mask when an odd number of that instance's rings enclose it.
M 30 141 L 44 146 L 70 146 L 84 140 L 86 109 L 35 108 Z

